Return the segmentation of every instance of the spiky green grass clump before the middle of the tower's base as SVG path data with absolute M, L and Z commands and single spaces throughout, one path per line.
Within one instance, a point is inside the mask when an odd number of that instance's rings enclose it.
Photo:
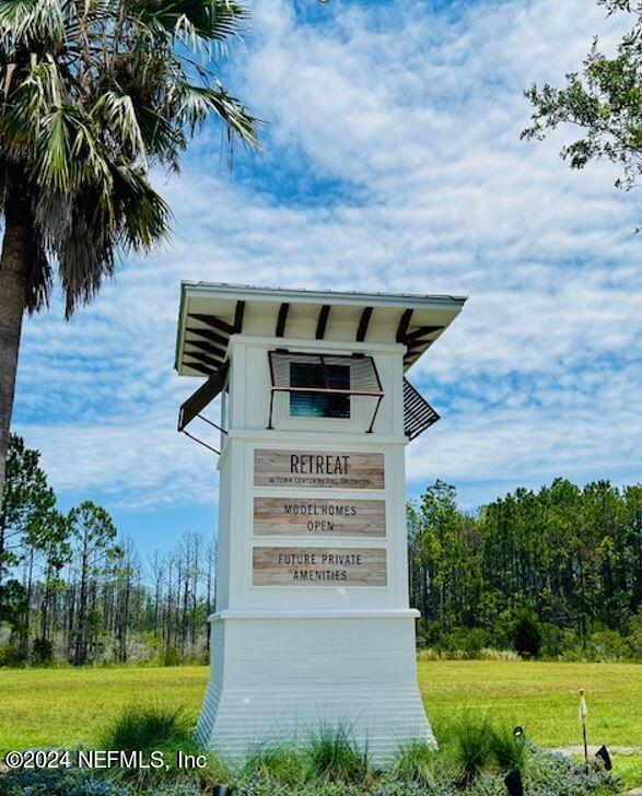
M 367 779 L 367 750 L 358 748 L 352 731 L 345 726 L 322 723 L 305 751 L 308 781 L 361 783 Z

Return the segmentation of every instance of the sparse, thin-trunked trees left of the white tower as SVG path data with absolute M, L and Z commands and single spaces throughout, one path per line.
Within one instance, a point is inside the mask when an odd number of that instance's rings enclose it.
M 39 453 L 11 435 L 0 513 L 0 666 L 207 658 L 213 539 L 188 532 L 143 561 L 105 508 L 67 514 Z

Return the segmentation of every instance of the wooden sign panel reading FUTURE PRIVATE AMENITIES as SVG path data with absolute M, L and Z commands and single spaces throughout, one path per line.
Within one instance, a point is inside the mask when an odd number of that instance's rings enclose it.
M 253 586 L 386 586 L 384 548 L 255 547 Z

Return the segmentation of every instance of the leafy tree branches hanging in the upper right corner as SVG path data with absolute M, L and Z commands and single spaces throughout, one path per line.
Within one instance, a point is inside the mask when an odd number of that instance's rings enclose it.
M 609 14 L 630 14 L 630 31 L 612 57 L 599 50 L 595 38 L 581 71 L 568 74 L 563 87 L 528 89 L 535 110 L 522 136 L 542 139 L 560 126 L 580 128 L 581 137 L 564 147 L 561 156 L 572 168 L 592 160 L 611 161 L 621 167 L 616 185 L 630 188 L 642 174 L 642 2 L 597 2 Z

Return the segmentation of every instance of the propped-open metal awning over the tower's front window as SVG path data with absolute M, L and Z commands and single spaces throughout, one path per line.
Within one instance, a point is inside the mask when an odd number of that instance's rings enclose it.
M 367 432 L 372 432 L 384 390 L 372 356 L 363 354 L 330 355 L 293 353 L 284 349 L 268 352 L 270 364 L 270 414 L 268 429 L 272 429 L 275 395 L 289 393 L 297 396 L 326 396 L 324 417 L 347 417 L 341 398 L 363 396 L 374 400 L 374 410 Z

